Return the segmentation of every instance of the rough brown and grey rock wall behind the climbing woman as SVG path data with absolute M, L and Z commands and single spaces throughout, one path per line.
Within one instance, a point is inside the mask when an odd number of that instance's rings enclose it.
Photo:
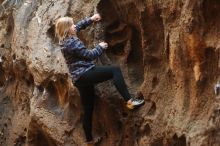
M 54 38 L 61 16 L 99 12 L 80 37 L 110 49 L 146 100 L 128 111 L 111 81 L 97 86 L 94 134 L 102 146 L 218 146 L 219 0 L 0 0 L 0 145 L 83 145 L 81 106 Z

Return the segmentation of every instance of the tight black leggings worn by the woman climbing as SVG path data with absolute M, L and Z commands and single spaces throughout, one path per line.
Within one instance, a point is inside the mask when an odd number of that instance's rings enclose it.
M 84 109 L 83 129 L 86 140 L 91 141 L 92 137 L 92 113 L 94 107 L 95 90 L 94 85 L 103 81 L 113 79 L 114 85 L 124 98 L 128 101 L 131 96 L 125 84 L 121 69 L 117 66 L 96 66 L 84 73 L 75 83 L 78 88 L 81 102 Z

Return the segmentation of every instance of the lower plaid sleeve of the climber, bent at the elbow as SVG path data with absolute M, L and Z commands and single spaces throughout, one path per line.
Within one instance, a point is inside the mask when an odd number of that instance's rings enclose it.
M 80 41 L 76 40 L 71 44 L 71 48 L 79 55 L 86 59 L 94 60 L 98 58 L 103 53 L 103 48 L 100 45 L 97 45 L 94 49 L 89 50 L 85 45 Z

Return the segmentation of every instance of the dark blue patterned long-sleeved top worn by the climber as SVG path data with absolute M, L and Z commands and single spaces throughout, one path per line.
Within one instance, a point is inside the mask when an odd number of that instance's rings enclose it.
M 77 32 L 85 29 L 92 23 L 90 18 L 85 18 L 76 24 Z M 61 51 L 66 60 L 73 82 L 75 83 L 82 74 L 95 67 L 93 60 L 98 58 L 103 48 L 96 46 L 94 49 L 87 49 L 83 42 L 76 36 L 64 39 L 61 44 Z

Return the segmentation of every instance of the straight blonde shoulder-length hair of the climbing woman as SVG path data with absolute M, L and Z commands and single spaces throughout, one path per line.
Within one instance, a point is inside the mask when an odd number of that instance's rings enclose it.
M 61 17 L 55 24 L 55 36 L 59 39 L 59 42 L 67 36 L 70 27 L 73 25 L 73 18 Z

